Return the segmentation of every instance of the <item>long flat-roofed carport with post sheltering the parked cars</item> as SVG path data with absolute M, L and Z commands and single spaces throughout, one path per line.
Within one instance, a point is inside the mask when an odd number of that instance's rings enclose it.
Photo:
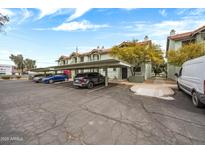
M 94 68 L 103 68 L 105 69 L 105 86 L 108 86 L 108 68 L 116 68 L 116 67 L 130 67 L 126 62 L 116 60 L 116 59 L 106 59 L 99 61 L 91 61 L 91 62 L 79 62 L 74 64 L 67 64 L 61 66 L 51 66 L 45 68 L 36 68 L 32 69 L 33 72 L 49 72 L 49 71 L 59 71 L 59 70 L 78 70 L 78 69 L 94 69 Z

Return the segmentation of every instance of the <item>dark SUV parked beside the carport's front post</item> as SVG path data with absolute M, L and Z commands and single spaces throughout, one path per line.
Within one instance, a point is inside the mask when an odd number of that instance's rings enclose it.
M 76 87 L 93 88 L 94 85 L 105 83 L 105 77 L 97 72 L 79 73 L 73 80 Z

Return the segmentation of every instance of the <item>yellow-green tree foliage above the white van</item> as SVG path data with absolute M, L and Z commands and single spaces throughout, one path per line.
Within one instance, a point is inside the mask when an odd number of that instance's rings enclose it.
M 178 50 L 170 50 L 168 52 L 168 63 L 181 66 L 187 60 L 205 55 L 204 44 L 189 43 Z

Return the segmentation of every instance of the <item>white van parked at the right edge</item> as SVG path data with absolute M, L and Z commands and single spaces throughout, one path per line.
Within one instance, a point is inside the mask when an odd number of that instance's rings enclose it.
M 183 90 L 192 96 L 192 102 L 196 107 L 205 104 L 205 56 L 186 61 L 177 77 L 179 90 Z

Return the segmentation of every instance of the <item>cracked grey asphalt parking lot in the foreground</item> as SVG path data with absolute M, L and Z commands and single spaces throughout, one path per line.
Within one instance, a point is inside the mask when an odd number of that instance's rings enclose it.
M 0 144 L 205 144 L 205 109 L 174 98 L 0 80 Z

